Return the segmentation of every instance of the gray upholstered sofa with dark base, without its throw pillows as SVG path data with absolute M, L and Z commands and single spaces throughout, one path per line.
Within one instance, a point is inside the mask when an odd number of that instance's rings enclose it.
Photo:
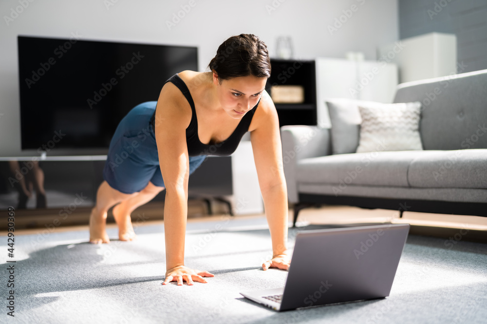
M 282 126 L 294 223 L 321 204 L 486 217 L 487 70 L 398 86 L 394 102 L 416 101 L 423 150 L 332 154 L 332 142 L 357 134 Z

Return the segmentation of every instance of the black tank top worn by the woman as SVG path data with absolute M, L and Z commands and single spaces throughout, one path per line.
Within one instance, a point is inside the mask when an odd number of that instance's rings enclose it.
M 231 153 L 235 152 L 237 146 L 242 139 L 242 136 L 248 131 L 248 126 L 252 121 L 252 117 L 254 116 L 255 110 L 259 105 L 261 100 L 251 109 L 249 110 L 244 117 L 240 120 L 239 124 L 235 131 L 230 135 L 227 139 L 220 143 L 214 144 L 203 144 L 198 137 L 198 120 L 196 119 L 196 109 L 194 107 L 193 98 L 189 93 L 189 89 L 184 81 L 179 77 L 176 73 L 171 76 L 164 84 L 172 82 L 176 85 L 179 90 L 184 94 L 189 105 L 191 106 L 191 121 L 189 122 L 189 126 L 186 129 L 186 144 L 187 144 L 187 153 L 189 156 L 198 156 L 198 155 L 219 155 L 219 156 L 227 156 Z M 155 131 L 155 111 L 150 119 L 150 124 Z

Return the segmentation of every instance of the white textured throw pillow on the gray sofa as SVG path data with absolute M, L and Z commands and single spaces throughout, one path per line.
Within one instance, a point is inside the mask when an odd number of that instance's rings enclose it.
M 362 123 L 357 153 L 422 150 L 421 102 L 382 103 L 358 107 Z

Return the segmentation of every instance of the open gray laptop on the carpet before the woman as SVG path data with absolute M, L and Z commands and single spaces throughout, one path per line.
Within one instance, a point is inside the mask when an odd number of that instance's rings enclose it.
M 302 231 L 284 288 L 241 292 L 266 307 L 300 307 L 389 296 L 409 224 Z

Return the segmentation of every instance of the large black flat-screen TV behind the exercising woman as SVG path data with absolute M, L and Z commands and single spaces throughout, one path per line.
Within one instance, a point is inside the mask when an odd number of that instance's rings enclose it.
M 131 108 L 157 101 L 175 73 L 198 70 L 196 47 L 19 35 L 18 51 L 21 149 L 48 154 L 108 152 Z

